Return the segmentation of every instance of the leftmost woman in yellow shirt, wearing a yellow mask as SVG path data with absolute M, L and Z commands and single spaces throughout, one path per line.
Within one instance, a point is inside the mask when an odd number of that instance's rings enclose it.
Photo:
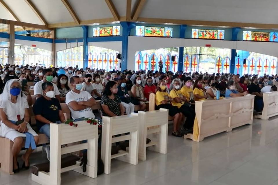
M 182 113 L 179 112 L 178 107 L 171 104 L 171 101 L 173 100 L 169 98 L 169 94 L 166 92 L 166 83 L 162 80 L 159 81 L 156 92 L 156 106 L 158 106 L 158 108 L 168 109 L 168 114 L 174 118 L 172 135 L 181 137 L 182 134 L 178 131 L 178 129 L 182 122 Z

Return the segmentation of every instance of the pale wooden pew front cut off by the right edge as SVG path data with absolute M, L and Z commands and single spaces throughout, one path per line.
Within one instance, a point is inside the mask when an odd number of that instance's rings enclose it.
M 272 116 L 278 115 L 278 92 L 263 93 L 264 109 L 261 115 L 256 115 L 255 118 L 267 120 Z

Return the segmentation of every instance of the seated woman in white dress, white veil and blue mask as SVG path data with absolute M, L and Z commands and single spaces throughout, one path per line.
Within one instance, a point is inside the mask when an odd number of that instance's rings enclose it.
M 39 136 L 29 125 L 29 106 L 27 99 L 22 95 L 21 83 L 18 79 L 8 80 L 3 93 L 0 95 L 0 136 L 14 142 L 12 146 L 13 171 L 19 171 L 17 156 L 21 151 L 23 138 L 26 138 L 26 153 L 21 157 L 22 169 L 29 168 L 29 158 L 39 142 Z M 16 124 L 16 122 L 20 124 Z M 22 123 L 21 123 L 22 122 Z

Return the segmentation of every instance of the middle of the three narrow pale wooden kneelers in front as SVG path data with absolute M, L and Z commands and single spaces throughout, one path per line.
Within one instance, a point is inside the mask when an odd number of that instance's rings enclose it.
M 111 159 L 138 164 L 138 144 L 139 144 L 139 116 L 131 113 L 124 116 L 107 117 L 103 116 L 103 127 L 101 136 L 101 159 L 104 163 L 104 173 L 110 173 Z M 116 136 L 118 134 L 128 135 Z M 111 155 L 112 143 L 129 140 L 128 151 L 119 150 L 117 154 Z

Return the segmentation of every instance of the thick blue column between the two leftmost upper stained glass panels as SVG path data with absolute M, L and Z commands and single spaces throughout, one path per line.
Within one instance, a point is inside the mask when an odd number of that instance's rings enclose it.
M 128 53 L 128 36 L 130 36 L 131 28 L 136 26 L 136 23 L 133 22 L 120 22 L 122 26 L 122 71 L 127 69 L 127 53 Z

